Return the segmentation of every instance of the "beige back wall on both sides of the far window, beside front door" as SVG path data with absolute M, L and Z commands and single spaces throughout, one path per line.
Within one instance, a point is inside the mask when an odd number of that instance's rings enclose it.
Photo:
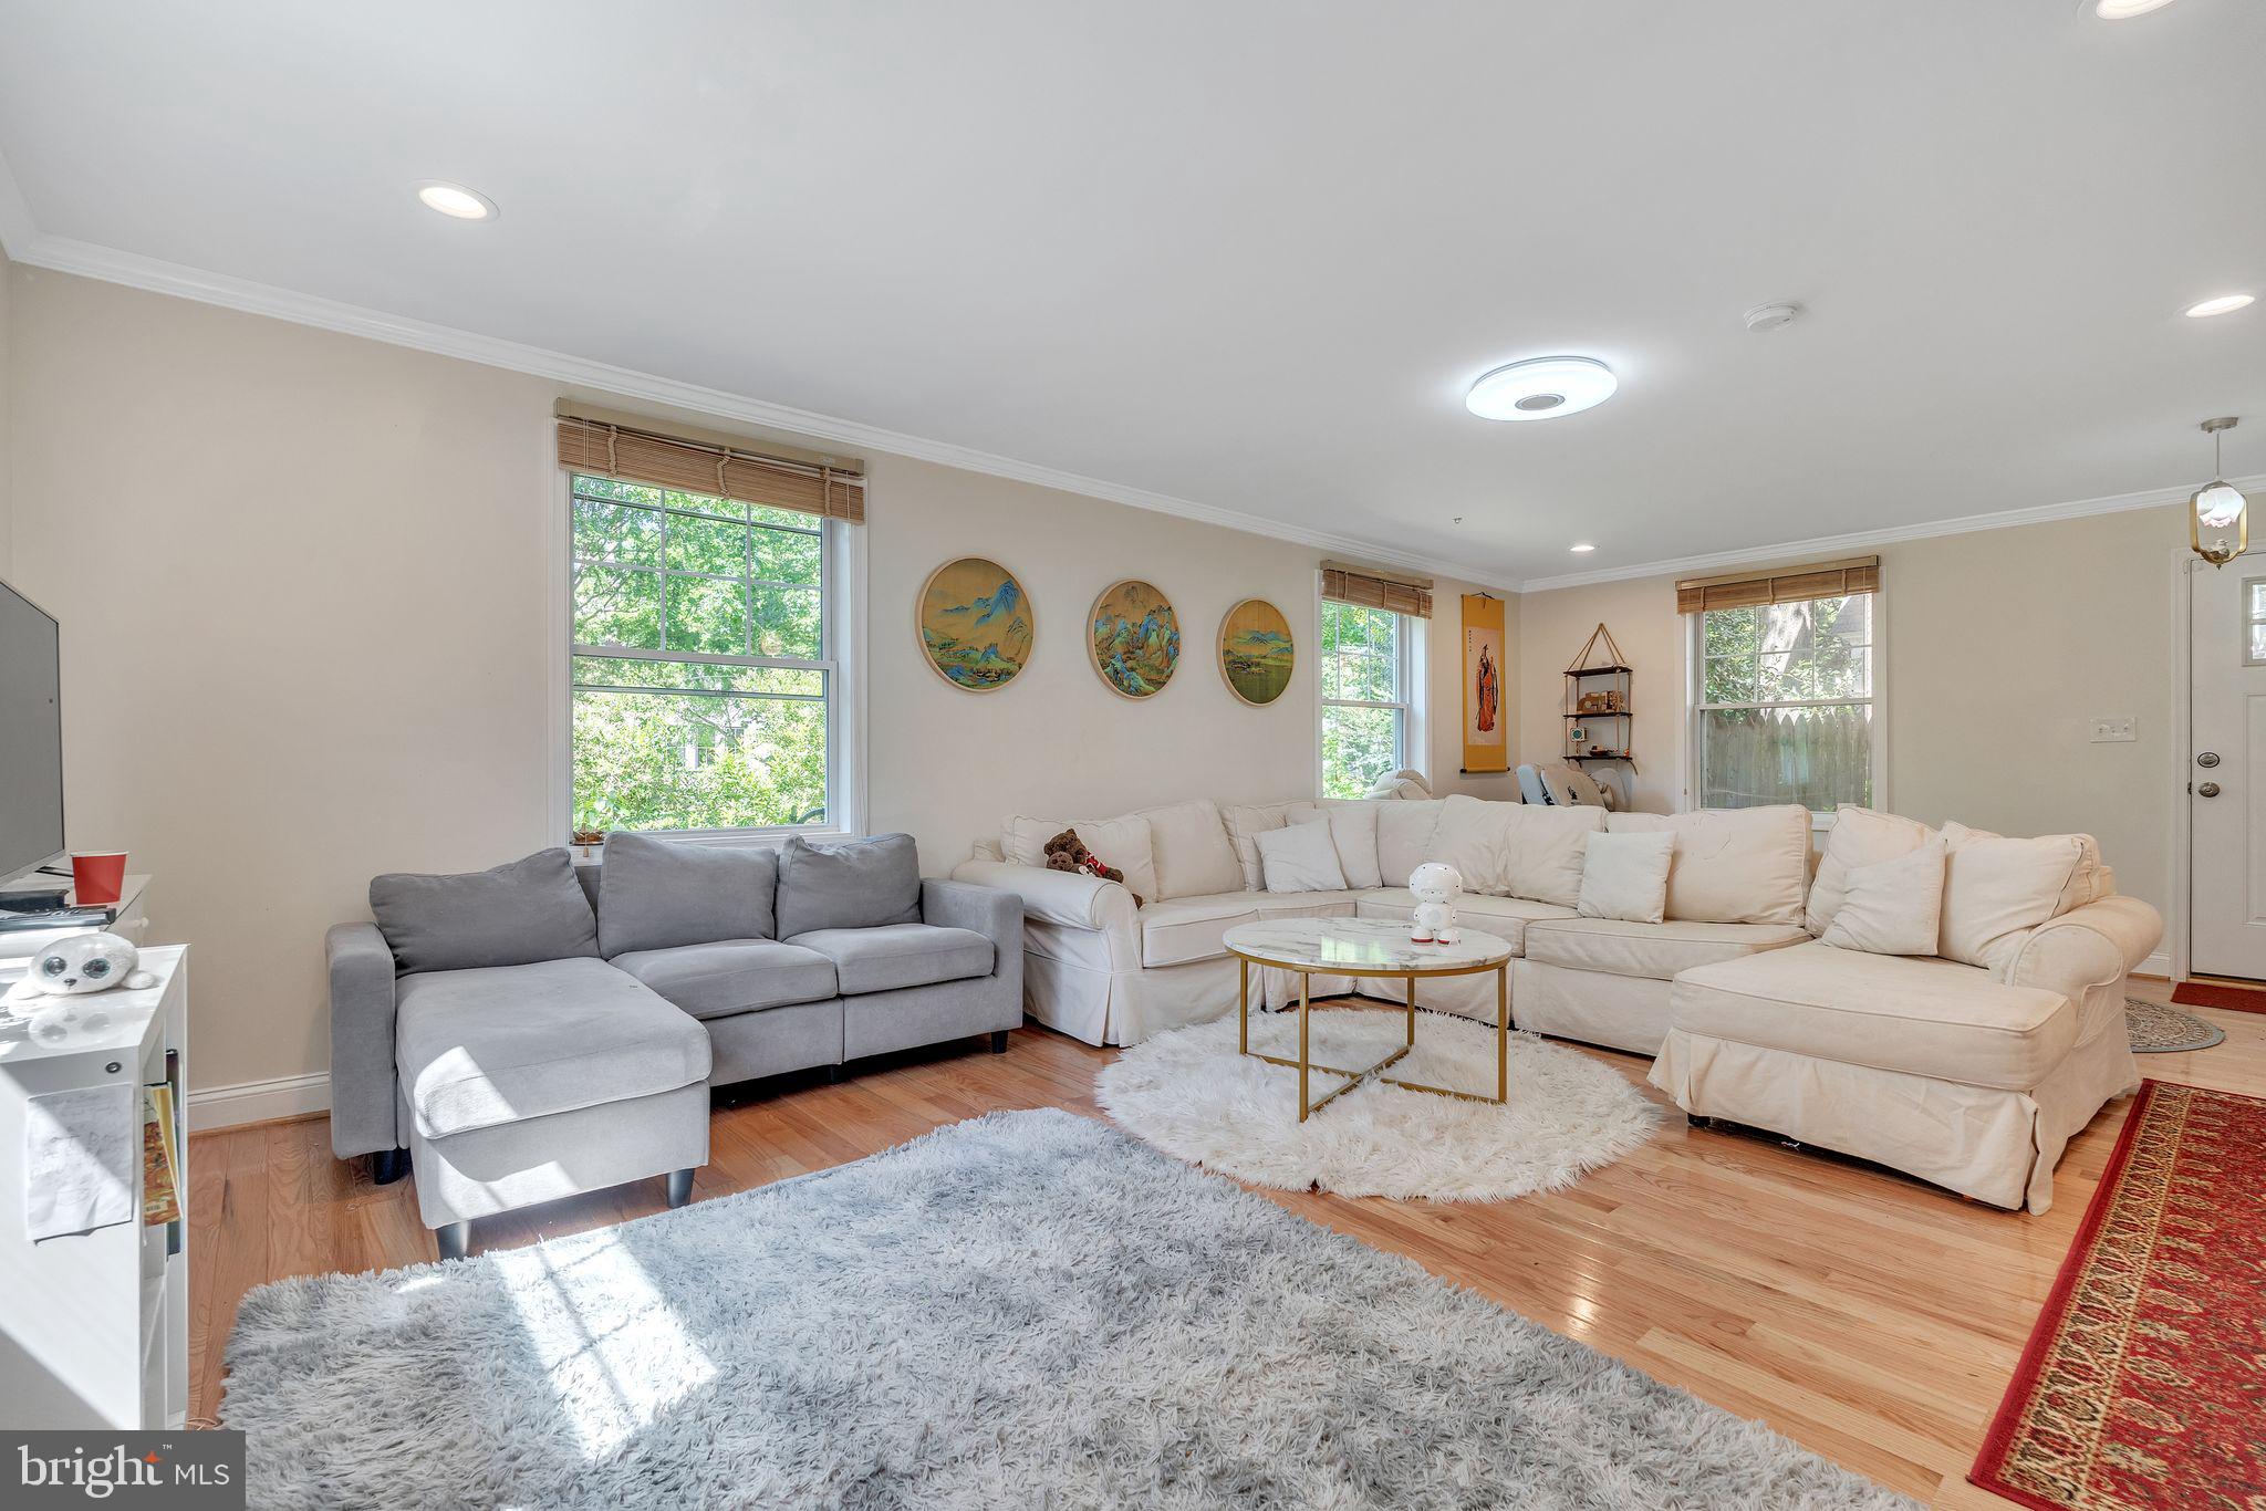
M 2085 831 L 2119 888 L 2164 906 L 2171 845 L 2171 562 L 2180 505 L 1881 548 L 1888 804 L 2003 834 Z M 1684 802 L 1684 621 L 1672 578 L 1525 594 L 1523 759 L 1552 754 L 1561 673 L 1604 621 L 1636 668 L 1638 806 Z M 2089 743 L 2135 716 L 2132 743 Z

